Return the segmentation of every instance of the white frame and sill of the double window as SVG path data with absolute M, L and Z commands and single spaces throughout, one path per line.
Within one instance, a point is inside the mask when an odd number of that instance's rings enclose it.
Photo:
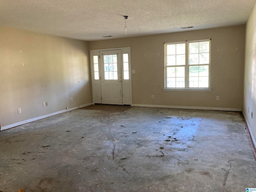
M 208 80 L 209 80 L 209 86 L 206 88 L 200 88 L 200 87 L 189 87 L 189 43 L 194 42 L 209 42 L 209 74 L 208 74 Z M 167 66 L 167 45 L 170 44 L 185 44 L 185 87 L 184 88 L 168 88 L 167 87 L 167 68 L 170 66 Z M 211 91 L 210 88 L 210 62 L 211 62 L 211 40 L 194 40 L 194 41 L 184 41 L 184 42 L 172 42 L 172 43 L 165 43 L 164 44 L 164 90 L 165 91 Z M 200 64 L 196 64 L 195 66 L 200 66 Z

